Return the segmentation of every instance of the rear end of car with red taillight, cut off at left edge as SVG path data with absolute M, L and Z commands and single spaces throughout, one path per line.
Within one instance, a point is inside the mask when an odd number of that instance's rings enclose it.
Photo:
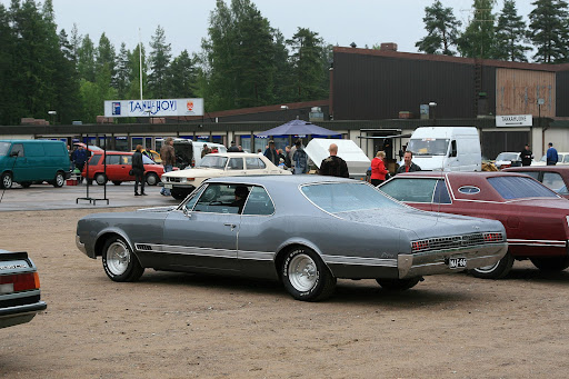
M 28 253 L 0 250 L 0 328 L 30 322 L 47 307 L 40 300 L 40 279 Z

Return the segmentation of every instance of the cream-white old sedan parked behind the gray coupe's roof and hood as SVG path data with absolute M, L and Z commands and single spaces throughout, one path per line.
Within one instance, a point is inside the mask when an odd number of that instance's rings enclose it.
M 181 200 L 209 178 L 248 174 L 292 174 L 274 166 L 266 157 L 249 152 L 220 152 L 207 154 L 194 168 L 162 174 L 164 188 Z

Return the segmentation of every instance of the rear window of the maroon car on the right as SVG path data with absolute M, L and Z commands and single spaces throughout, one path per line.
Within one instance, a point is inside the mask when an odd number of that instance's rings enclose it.
M 493 177 L 488 182 L 506 200 L 523 198 L 558 198 L 549 188 L 531 178 Z

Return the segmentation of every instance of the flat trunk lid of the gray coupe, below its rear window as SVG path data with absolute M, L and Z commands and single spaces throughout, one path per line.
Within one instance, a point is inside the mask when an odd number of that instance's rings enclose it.
M 359 210 L 336 216 L 349 221 L 406 230 L 419 239 L 432 238 L 435 235 L 447 237 L 485 231 L 505 232 L 500 221 L 411 208 Z

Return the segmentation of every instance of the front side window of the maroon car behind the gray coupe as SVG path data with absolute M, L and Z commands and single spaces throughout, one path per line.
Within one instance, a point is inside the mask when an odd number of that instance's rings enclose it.
M 379 189 L 399 201 L 431 202 L 437 181 L 439 181 L 437 178 L 395 178 Z

